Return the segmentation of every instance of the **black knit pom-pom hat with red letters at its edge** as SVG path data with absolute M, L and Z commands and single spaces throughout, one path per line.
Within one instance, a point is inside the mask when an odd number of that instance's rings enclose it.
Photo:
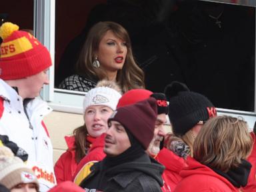
M 199 121 L 207 121 L 217 115 L 213 103 L 207 97 L 190 91 L 178 81 L 165 87 L 165 95 L 169 101 L 169 119 L 176 135 L 185 135 Z

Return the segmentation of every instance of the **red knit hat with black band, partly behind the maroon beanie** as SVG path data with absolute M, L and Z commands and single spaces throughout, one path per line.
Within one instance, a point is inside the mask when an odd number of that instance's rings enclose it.
M 117 103 L 118 107 L 124 107 L 126 105 L 131 105 L 137 103 L 138 101 L 142 101 L 148 99 L 149 97 L 153 97 L 157 99 L 157 113 L 168 113 L 168 103 L 163 93 L 153 93 L 147 89 L 131 89 L 127 91 L 122 97 L 119 99 Z

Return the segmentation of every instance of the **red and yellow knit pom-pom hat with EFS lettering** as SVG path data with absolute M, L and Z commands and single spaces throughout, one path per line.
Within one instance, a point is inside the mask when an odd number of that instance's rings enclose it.
M 22 79 L 51 66 L 49 51 L 33 35 L 18 31 L 19 26 L 3 23 L 0 27 L 0 78 Z

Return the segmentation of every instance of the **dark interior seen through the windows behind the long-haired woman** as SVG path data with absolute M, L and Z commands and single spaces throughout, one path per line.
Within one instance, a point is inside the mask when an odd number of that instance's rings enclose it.
M 20 29 L 33 29 L 33 0 L 3 1 L 0 13 Z M 182 81 L 216 107 L 254 111 L 254 7 L 195 0 L 56 0 L 55 17 L 55 86 L 76 72 L 89 28 L 115 21 L 129 32 L 147 89 L 163 92 L 171 81 Z

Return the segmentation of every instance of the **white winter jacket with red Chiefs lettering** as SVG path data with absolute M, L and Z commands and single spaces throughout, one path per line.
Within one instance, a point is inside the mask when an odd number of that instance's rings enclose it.
M 39 179 L 40 191 L 56 184 L 53 171 L 53 146 L 43 123 L 52 109 L 41 99 L 31 99 L 23 107 L 23 99 L 15 89 L 0 79 L 0 135 L 7 135 L 29 154 L 27 165 Z M 30 122 L 30 123 L 29 123 Z

